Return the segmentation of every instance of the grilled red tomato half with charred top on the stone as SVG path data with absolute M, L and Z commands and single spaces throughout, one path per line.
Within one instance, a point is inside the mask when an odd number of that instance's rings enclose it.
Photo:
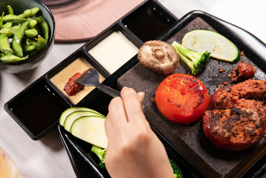
M 170 121 L 190 124 L 200 119 L 209 105 L 205 85 L 196 77 L 172 74 L 155 91 L 159 111 Z

